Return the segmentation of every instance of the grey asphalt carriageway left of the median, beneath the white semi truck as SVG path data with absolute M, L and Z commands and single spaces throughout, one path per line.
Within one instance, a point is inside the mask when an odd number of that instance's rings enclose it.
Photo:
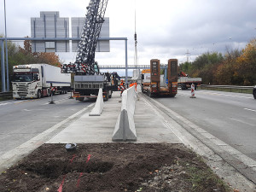
M 0 156 L 95 102 L 69 99 L 69 94 L 0 102 Z

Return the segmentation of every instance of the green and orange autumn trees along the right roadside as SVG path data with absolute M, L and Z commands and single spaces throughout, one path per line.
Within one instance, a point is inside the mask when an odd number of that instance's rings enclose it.
M 256 84 L 256 38 L 244 49 L 226 49 L 225 54 L 207 52 L 193 62 L 184 62 L 179 70 L 192 78 L 202 78 L 202 84 Z

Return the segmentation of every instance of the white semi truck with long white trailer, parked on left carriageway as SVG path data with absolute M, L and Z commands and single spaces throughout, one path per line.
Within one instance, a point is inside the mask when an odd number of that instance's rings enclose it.
M 13 97 L 40 98 L 51 93 L 67 93 L 71 75 L 61 73 L 60 67 L 49 64 L 27 64 L 13 67 Z

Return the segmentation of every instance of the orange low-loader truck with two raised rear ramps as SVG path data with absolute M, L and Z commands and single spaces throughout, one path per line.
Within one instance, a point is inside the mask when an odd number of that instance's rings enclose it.
M 150 69 L 142 72 L 142 91 L 148 96 L 176 96 L 177 59 L 168 60 L 167 74 L 160 74 L 160 60 L 150 61 Z

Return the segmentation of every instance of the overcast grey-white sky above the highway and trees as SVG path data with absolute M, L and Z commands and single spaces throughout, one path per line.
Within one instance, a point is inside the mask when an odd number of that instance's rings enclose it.
M 3 0 L 0 1 L 0 34 L 4 34 Z M 31 37 L 31 17 L 40 11 L 59 11 L 60 17 L 83 17 L 89 0 L 6 0 L 9 38 Z M 111 38 L 128 38 L 128 64 L 134 64 L 135 9 L 137 12 L 138 63 L 150 59 L 166 63 L 195 60 L 207 51 L 242 49 L 256 37 L 256 0 L 109 0 L 105 16 Z M 96 53 L 100 65 L 125 65 L 125 42 L 111 42 L 110 53 Z M 58 53 L 59 54 L 59 53 Z M 61 61 L 75 53 L 59 54 Z

